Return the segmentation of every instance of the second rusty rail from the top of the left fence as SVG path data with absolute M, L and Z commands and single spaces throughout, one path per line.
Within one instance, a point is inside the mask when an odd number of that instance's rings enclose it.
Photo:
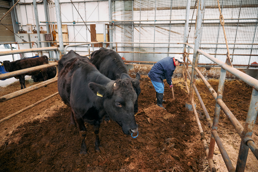
M 45 68 L 50 68 L 53 66 L 57 66 L 58 63 L 57 62 L 53 62 L 53 63 L 49 63 L 49 64 L 44 64 L 44 65 L 40 65 L 40 66 L 35 66 L 32 68 L 26 68 L 26 69 L 22 69 L 22 70 L 17 70 L 17 71 L 13 71 L 13 72 L 9 72 L 9 73 L 4 73 L 0 75 L 0 79 L 5 79 L 5 78 L 11 78 L 17 75 L 22 75 L 28 72 L 33 72 L 33 71 L 38 71 L 41 69 L 45 69 Z

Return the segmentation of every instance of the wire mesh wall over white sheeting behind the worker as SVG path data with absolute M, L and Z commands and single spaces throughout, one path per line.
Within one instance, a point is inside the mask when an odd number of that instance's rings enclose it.
M 249 65 L 258 62 L 258 56 L 253 56 L 257 55 L 257 45 L 255 44 L 258 43 L 258 0 L 220 0 L 219 2 L 225 20 L 224 27 L 232 64 Z M 122 44 L 123 52 L 168 53 L 123 53 L 122 55 L 126 60 L 159 61 L 166 56 L 173 56 L 173 53 L 182 53 L 182 44 L 160 43 L 183 43 L 186 0 L 130 0 L 114 1 L 113 3 L 116 3 L 116 5 L 113 5 L 113 9 L 120 6 L 119 10 L 123 21 L 120 25 L 122 42 L 156 43 Z M 119 5 L 117 5 L 118 3 Z M 198 1 L 191 1 L 187 33 L 189 43 L 195 41 L 197 6 L 199 6 Z M 118 10 L 116 9 L 116 11 Z M 113 13 L 114 15 L 116 13 Z M 217 0 L 205 1 L 200 49 L 213 54 L 215 58 L 221 61 L 225 61 L 227 48 L 219 16 Z M 190 55 L 190 58 L 192 58 L 192 55 Z M 198 63 L 213 64 L 203 55 L 199 55 Z

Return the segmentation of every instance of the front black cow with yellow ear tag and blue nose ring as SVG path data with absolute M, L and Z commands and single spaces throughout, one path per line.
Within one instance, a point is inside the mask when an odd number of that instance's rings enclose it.
M 70 54 L 76 55 L 71 52 Z M 138 132 L 133 106 L 137 99 L 129 79 L 111 80 L 86 57 L 64 55 L 58 62 L 58 92 L 70 106 L 82 139 L 80 153 L 87 154 L 84 122 L 94 125 L 95 150 L 100 151 L 99 127 L 104 115 L 116 121 L 125 134 Z

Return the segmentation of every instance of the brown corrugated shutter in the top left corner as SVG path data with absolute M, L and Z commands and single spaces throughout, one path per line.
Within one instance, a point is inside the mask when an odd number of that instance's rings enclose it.
M 7 1 L 0 0 L 0 18 L 10 9 L 3 6 L 9 7 L 10 3 Z M 13 23 L 11 13 L 7 14 L 1 21 L 7 28 L 13 31 Z M 0 24 L 0 42 L 15 42 L 14 34 L 9 29 Z

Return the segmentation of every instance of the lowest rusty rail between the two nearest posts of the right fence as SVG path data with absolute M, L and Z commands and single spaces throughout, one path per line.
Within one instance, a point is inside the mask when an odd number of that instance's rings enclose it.
M 219 150 L 220 150 L 220 153 L 221 153 L 221 156 L 225 162 L 225 165 L 227 166 L 227 169 L 229 172 L 235 172 L 235 168 L 233 167 L 233 164 L 228 156 L 228 153 L 227 151 L 225 150 L 224 146 L 223 146 L 223 143 L 221 142 L 220 140 L 220 136 L 218 135 L 217 131 L 216 130 L 213 130 L 212 131 L 212 134 L 215 138 L 215 141 L 219 147 Z

